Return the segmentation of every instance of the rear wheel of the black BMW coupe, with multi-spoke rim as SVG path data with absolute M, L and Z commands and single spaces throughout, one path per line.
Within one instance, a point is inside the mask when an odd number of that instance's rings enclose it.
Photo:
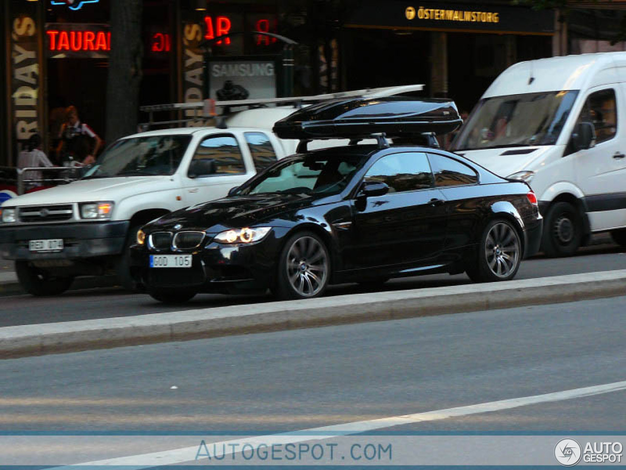
M 515 226 L 505 219 L 494 219 L 483 230 L 466 273 L 474 282 L 510 281 L 520 269 L 522 256 L 523 246 Z

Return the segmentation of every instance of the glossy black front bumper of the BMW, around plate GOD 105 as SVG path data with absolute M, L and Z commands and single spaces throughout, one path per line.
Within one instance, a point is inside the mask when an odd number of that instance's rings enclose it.
M 195 251 L 148 251 L 145 246 L 134 245 L 130 249 L 130 273 L 140 290 L 195 288 L 228 293 L 269 288 L 275 281 L 281 232 L 275 228 L 261 241 L 250 244 L 209 241 Z M 150 256 L 160 254 L 191 254 L 192 266 L 150 268 Z

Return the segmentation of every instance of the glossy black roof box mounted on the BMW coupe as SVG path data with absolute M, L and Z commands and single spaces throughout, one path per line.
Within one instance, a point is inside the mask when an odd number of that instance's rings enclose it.
M 463 120 L 451 100 L 384 97 L 331 100 L 302 108 L 274 125 L 280 138 L 300 140 L 444 134 Z

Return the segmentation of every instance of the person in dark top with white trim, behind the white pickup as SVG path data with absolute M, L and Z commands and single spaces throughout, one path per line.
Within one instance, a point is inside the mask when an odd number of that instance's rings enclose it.
M 95 163 L 102 139 L 86 123 L 80 122 L 78 110 L 70 106 L 66 110 L 66 122 L 59 132 L 57 155 L 64 166 L 91 165 Z

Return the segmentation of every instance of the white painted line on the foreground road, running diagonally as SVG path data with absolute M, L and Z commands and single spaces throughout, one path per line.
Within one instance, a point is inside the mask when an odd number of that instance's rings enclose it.
M 260 444 L 289 444 L 303 441 L 332 439 L 333 437 L 349 436 L 351 434 L 375 431 L 377 429 L 385 429 L 393 426 L 402 426 L 404 424 L 435 421 L 439 419 L 488 413 L 492 411 L 510 410 L 521 406 L 590 397 L 592 395 L 618 392 L 619 390 L 626 390 L 626 380 L 622 382 L 613 382 L 612 384 L 583 387 L 582 389 L 553 392 L 551 394 L 498 400 L 496 402 L 487 402 L 476 405 L 460 406 L 456 408 L 392 416 L 367 421 L 336 424 L 334 426 L 314 427 L 311 429 L 304 429 L 302 431 L 269 434 L 267 436 L 244 437 L 242 439 L 215 442 L 215 445 L 226 447 L 229 446 L 229 444 L 251 444 L 253 447 L 257 448 Z M 198 437 L 198 441 L 200 441 L 200 437 Z M 195 459 L 199 449 L 199 444 L 200 442 L 198 442 L 197 446 L 193 447 L 184 447 L 182 449 L 163 452 L 151 452 L 150 454 L 140 454 L 136 456 L 116 457 L 113 459 L 85 462 L 70 466 L 54 467 L 48 470 L 75 470 L 76 466 L 124 466 L 125 470 L 141 470 L 156 466 L 180 464 L 182 462 L 193 461 Z M 213 447 L 213 443 L 211 443 L 211 446 Z M 226 453 L 230 454 L 230 452 Z M 222 454 L 215 454 L 217 457 L 220 457 L 221 455 Z

